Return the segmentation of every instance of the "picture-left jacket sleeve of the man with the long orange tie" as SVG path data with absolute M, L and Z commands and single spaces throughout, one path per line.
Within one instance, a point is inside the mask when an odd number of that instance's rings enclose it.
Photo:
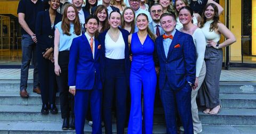
M 68 63 L 68 85 L 76 86 L 76 65 L 78 61 L 78 44 L 79 40 L 74 38 L 70 46 L 69 51 L 69 63 Z

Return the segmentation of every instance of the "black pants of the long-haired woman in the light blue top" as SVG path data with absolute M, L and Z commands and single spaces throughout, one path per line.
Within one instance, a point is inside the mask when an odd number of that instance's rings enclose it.
M 74 96 L 69 93 L 68 86 L 68 62 L 69 51 L 59 52 L 59 65 L 61 69 L 60 76 L 56 76 L 58 89 L 60 91 L 60 110 L 61 118 L 69 118 L 70 109 L 71 116 L 74 117 Z

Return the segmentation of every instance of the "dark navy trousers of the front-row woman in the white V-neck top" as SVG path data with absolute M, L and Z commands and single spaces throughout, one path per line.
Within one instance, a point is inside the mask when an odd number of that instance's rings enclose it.
M 127 84 L 125 77 L 124 60 L 107 58 L 105 68 L 105 81 L 103 88 L 103 118 L 106 133 L 112 133 L 111 108 L 113 98 L 116 104 L 117 133 L 124 133 L 126 119 Z M 93 122 L 94 125 L 94 122 Z

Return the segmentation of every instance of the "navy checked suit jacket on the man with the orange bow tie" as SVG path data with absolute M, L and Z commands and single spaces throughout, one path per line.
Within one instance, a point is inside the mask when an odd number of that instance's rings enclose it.
M 174 48 L 178 44 L 180 47 Z M 182 89 L 187 82 L 195 83 L 196 48 L 192 36 L 176 30 L 167 58 L 163 36 L 156 38 L 155 48 L 160 65 L 159 89 L 163 89 L 166 79 L 172 90 Z

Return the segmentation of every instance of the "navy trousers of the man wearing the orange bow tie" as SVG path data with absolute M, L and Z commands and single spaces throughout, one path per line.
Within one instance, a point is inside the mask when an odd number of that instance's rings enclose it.
M 169 82 L 160 90 L 161 100 L 164 107 L 166 133 L 178 133 L 177 110 L 186 134 L 193 134 L 193 120 L 191 113 L 191 86 L 189 83 L 178 90 L 171 89 Z

